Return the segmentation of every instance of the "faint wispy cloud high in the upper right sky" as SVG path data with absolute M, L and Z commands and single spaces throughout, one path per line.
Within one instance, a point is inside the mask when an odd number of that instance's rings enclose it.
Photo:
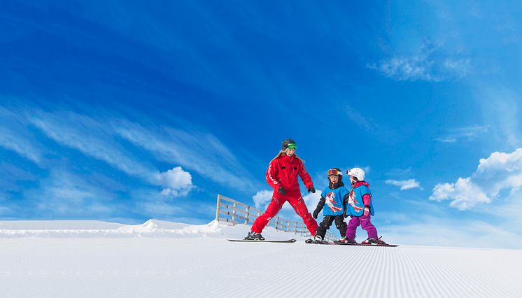
M 417 55 L 396 55 L 367 67 L 393 80 L 441 82 L 463 78 L 470 72 L 470 59 L 444 54 L 442 48 L 425 42 Z

